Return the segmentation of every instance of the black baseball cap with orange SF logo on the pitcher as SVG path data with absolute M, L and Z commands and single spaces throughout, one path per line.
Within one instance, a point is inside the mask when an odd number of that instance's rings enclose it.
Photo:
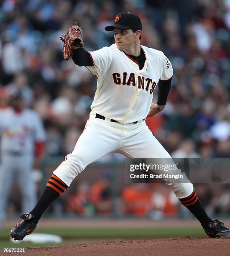
M 105 30 L 113 31 L 114 28 L 141 30 L 141 19 L 134 13 L 119 13 L 113 25 L 105 27 Z

